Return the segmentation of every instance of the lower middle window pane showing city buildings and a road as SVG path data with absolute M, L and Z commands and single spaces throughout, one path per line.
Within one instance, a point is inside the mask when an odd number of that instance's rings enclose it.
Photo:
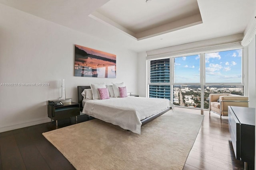
M 173 86 L 173 104 L 201 108 L 201 86 Z

